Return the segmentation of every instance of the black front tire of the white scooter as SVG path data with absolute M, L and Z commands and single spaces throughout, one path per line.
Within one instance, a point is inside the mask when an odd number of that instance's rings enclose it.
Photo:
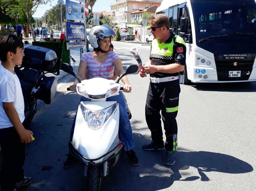
M 101 186 L 102 165 L 88 166 L 87 171 L 87 186 L 88 191 L 99 191 Z

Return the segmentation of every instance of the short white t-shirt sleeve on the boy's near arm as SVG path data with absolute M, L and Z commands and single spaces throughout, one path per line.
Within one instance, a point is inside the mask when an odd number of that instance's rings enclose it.
M 2 102 L 14 102 L 15 85 L 13 82 L 4 82 L 0 85 Z

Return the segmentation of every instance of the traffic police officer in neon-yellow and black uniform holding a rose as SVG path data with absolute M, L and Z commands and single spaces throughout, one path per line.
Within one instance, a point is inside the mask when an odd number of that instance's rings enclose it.
M 175 163 L 177 147 L 176 116 L 179 108 L 179 72 L 184 70 L 186 45 L 184 40 L 169 30 L 170 22 L 166 15 L 156 14 L 149 18 L 150 32 L 154 36 L 150 57 L 141 77 L 150 74 L 150 84 L 146 100 L 146 121 L 151 131 L 152 142 L 143 145 L 145 150 L 166 149 L 164 164 Z M 164 123 L 166 142 L 164 145 L 161 115 Z

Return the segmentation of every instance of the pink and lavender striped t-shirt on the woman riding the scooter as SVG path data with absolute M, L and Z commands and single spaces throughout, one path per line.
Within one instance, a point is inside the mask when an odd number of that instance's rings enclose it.
M 91 78 L 106 78 L 111 79 L 114 77 L 114 64 L 113 62 L 119 59 L 115 52 L 108 51 L 108 57 L 104 62 L 97 62 L 93 57 L 92 52 L 85 53 L 81 57 L 81 61 L 87 63 L 87 72 L 89 79 Z

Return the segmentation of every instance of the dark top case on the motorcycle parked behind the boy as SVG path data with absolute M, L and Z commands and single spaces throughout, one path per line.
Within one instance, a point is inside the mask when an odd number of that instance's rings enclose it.
M 22 65 L 26 67 L 26 61 L 28 61 L 31 58 L 40 59 L 42 61 L 41 64 L 34 66 L 35 69 L 41 69 L 41 70 L 50 70 L 55 63 L 57 62 L 57 55 L 56 53 L 49 49 L 44 48 L 41 46 L 33 46 L 33 45 L 25 45 L 23 52 L 25 56 L 23 57 Z M 33 68 L 33 66 L 31 66 Z

